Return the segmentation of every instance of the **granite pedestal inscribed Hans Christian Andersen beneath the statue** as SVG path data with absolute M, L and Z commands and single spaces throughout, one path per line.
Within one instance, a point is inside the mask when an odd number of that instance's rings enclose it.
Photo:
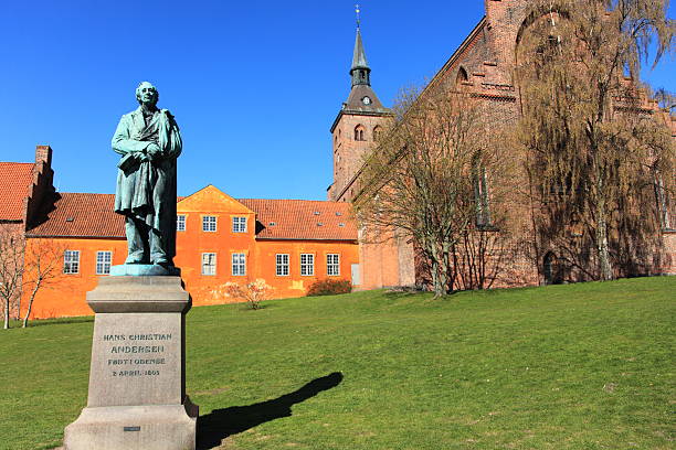
M 186 395 L 190 296 L 175 276 L 101 278 L 87 407 L 65 450 L 194 450 L 198 407 Z

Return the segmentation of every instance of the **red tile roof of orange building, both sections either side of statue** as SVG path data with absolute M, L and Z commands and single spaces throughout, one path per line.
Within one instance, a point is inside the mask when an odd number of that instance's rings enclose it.
M 180 197 L 179 197 L 180 199 Z M 256 213 L 256 238 L 357 240 L 348 203 L 307 200 L 237 200 Z M 29 236 L 125 237 L 115 195 L 61 193 L 47 219 Z M 318 213 L 318 214 L 316 214 Z

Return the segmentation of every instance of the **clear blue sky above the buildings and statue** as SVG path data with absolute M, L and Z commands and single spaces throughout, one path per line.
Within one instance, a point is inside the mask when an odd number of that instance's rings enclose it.
M 326 199 L 329 127 L 350 88 L 355 2 L 8 1 L 0 14 L 0 161 L 54 149 L 62 192 L 115 191 L 110 138 L 140 81 L 183 135 L 179 195 Z M 365 0 L 372 85 L 391 105 L 451 56 L 484 2 Z M 675 7 L 669 8 L 674 17 Z M 666 56 L 644 79 L 676 90 Z

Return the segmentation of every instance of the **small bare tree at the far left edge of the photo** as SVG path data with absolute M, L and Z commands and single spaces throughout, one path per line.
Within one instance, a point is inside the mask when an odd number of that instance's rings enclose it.
M 23 278 L 24 240 L 19 232 L 0 226 L 0 298 L 2 299 L 3 328 L 10 328 L 10 317 L 19 308 Z

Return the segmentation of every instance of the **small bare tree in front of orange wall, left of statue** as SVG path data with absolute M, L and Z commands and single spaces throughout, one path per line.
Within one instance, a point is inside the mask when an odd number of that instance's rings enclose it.
M 62 245 L 50 239 L 29 239 L 25 246 L 23 270 L 23 291 L 29 291 L 28 306 L 23 317 L 23 328 L 28 326 L 35 296 L 41 289 L 49 288 L 63 274 Z

